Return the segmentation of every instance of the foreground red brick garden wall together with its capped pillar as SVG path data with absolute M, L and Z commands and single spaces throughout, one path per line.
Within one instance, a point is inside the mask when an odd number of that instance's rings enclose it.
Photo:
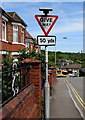
M 41 61 L 25 59 L 20 62 L 21 66 L 28 66 L 26 81 L 30 79 L 31 85 L 26 87 L 17 96 L 10 100 L 0 109 L 0 119 L 11 120 L 11 118 L 41 118 Z

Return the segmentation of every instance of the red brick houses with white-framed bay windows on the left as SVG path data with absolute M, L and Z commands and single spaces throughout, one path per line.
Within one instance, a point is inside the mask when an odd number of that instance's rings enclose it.
M 29 50 L 38 49 L 37 51 L 40 52 L 40 47 L 36 47 L 35 39 L 26 30 L 27 24 L 16 12 L 5 12 L 0 8 L 0 13 L 1 55 L 5 55 L 9 50 L 13 56 L 17 56 L 17 51 L 26 47 L 29 47 Z

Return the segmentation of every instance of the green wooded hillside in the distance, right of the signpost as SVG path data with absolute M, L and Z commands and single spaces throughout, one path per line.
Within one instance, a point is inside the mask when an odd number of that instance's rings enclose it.
M 54 66 L 55 64 L 55 52 L 49 51 L 49 66 Z M 85 67 L 85 53 L 67 53 L 67 52 L 56 52 L 56 65 L 60 66 L 66 60 L 72 60 L 72 64 L 82 64 Z

